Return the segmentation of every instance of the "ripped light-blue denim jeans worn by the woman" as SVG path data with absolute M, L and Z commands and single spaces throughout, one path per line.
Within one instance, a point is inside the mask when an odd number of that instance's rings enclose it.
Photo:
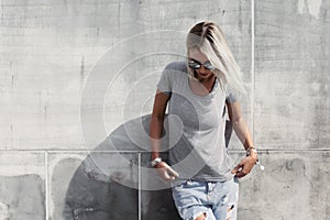
M 205 213 L 206 220 L 235 220 L 239 183 L 179 180 L 173 186 L 173 198 L 184 220 L 194 220 Z

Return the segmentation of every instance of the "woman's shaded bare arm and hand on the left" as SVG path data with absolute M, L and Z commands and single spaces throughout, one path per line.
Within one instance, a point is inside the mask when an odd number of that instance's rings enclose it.
M 161 157 L 161 139 L 163 134 L 165 111 L 168 100 L 169 96 L 157 89 L 150 122 L 152 161 Z M 173 170 L 170 166 L 168 166 L 165 162 L 158 163 L 155 168 L 157 168 L 160 177 L 164 180 L 170 182 L 174 180 L 175 177 L 178 177 L 178 174 Z

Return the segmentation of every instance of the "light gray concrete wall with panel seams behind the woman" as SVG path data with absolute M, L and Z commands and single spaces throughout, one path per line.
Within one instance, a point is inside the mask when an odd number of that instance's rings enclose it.
M 266 166 L 241 179 L 239 219 L 330 218 L 329 1 L 0 4 L 0 219 L 179 219 L 139 124 L 201 20 L 242 68 Z M 229 147 L 238 162 L 235 136 Z

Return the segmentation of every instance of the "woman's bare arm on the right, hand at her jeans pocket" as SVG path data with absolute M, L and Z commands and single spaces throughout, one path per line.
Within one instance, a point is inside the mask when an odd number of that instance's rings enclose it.
M 241 105 L 239 101 L 227 102 L 229 119 L 232 122 L 233 130 L 242 142 L 249 155 L 244 157 L 231 173 L 241 178 L 248 175 L 257 161 L 257 153 L 253 146 L 253 141 L 246 121 L 242 116 Z

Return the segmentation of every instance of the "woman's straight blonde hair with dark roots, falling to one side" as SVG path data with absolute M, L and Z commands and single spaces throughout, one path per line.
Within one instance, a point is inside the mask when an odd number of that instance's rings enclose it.
M 222 88 L 229 86 L 233 92 L 245 94 L 240 67 L 229 50 L 223 33 L 215 22 L 205 21 L 194 25 L 188 32 L 186 44 L 187 53 L 191 48 L 198 48 L 208 57 L 216 67 L 213 73 Z M 194 76 L 194 70 L 188 66 L 187 69 Z

